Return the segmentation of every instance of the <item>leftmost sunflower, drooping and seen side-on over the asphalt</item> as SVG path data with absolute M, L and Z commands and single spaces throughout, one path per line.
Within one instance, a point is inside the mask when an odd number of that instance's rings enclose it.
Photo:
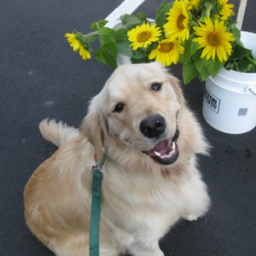
M 73 47 L 73 51 L 79 50 L 79 55 L 82 57 L 84 61 L 90 59 L 90 51 L 89 44 L 86 44 L 83 41 L 83 36 L 79 32 L 74 33 L 66 33 L 65 37 L 67 38 L 67 42 Z

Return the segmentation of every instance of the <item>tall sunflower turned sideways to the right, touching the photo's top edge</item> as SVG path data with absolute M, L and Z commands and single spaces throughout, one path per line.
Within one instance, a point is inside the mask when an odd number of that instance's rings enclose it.
M 166 37 L 185 41 L 189 38 L 189 13 L 188 1 L 174 2 L 172 9 L 167 13 L 167 23 L 164 25 Z

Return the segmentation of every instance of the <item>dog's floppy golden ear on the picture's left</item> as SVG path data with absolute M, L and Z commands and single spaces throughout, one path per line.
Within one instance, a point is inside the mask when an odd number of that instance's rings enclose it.
M 102 116 L 98 96 L 90 102 L 89 110 L 80 127 L 81 134 L 95 147 L 97 160 L 101 161 L 104 154 L 104 131 L 106 120 Z

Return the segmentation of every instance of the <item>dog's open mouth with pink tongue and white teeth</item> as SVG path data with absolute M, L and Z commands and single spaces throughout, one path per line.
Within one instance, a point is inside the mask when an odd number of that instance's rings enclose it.
M 154 148 L 148 151 L 148 155 L 162 165 L 171 165 L 177 160 L 179 154 L 177 147 L 178 135 L 179 131 L 177 130 L 174 137 L 157 143 Z

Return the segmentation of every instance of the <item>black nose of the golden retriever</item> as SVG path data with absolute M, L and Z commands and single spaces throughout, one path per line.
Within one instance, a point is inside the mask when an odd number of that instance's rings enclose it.
M 150 114 L 142 120 L 140 131 L 145 137 L 160 137 L 166 130 L 166 120 L 160 114 Z

